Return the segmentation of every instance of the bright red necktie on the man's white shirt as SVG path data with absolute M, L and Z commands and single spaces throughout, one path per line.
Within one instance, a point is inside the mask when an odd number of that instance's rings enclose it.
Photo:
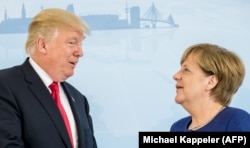
M 65 110 L 64 110 L 64 108 L 63 108 L 63 106 L 61 104 L 58 83 L 57 82 L 53 82 L 49 86 L 49 88 L 51 89 L 51 95 L 54 98 L 54 101 L 56 102 L 56 105 L 57 105 L 58 109 L 61 112 L 61 115 L 63 117 L 65 126 L 67 128 L 68 135 L 70 137 L 70 141 L 71 141 L 71 143 L 73 145 L 73 137 L 72 137 L 72 133 L 71 133 L 71 129 L 70 129 L 69 119 L 68 119 L 67 114 L 66 114 L 66 112 L 65 112 Z

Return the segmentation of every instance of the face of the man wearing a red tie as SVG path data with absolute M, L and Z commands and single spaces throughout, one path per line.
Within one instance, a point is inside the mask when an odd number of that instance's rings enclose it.
M 46 69 L 54 81 L 64 81 L 74 74 L 76 64 L 83 56 L 83 39 L 80 32 L 61 29 L 46 43 Z

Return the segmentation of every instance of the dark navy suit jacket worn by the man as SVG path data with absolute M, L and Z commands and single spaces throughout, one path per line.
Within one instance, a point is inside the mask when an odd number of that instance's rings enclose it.
M 75 117 L 79 148 L 96 148 L 88 101 L 62 82 Z M 63 119 L 50 92 L 28 58 L 0 70 L 0 148 L 72 148 Z

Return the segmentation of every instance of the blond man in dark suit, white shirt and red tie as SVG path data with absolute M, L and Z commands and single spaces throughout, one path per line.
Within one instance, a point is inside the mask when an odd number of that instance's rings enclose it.
M 83 56 L 88 32 L 84 21 L 66 10 L 44 9 L 33 18 L 29 57 L 0 70 L 0 148 L 97 147 L 88 101 L 65 81 Z

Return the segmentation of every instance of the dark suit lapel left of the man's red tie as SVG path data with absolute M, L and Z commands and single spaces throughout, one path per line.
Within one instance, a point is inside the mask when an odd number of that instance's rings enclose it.
M 22 68 L 25 75 L 25 79 L 29 83 L 29 88 L 31 92 L 34 94 L 35 98 L 41 103 L 44 110 L 46 110 L 46 112 L 48 113 L 49 117 L 55 124 L 55 127 L 57 128 L 67 147 L 72 147 L 60 112 L 57 109 L 57 106 L 54 103 L 53 98 L 50 95 L 48 89 L 30 65 L 28 58 L 22 65 Z

